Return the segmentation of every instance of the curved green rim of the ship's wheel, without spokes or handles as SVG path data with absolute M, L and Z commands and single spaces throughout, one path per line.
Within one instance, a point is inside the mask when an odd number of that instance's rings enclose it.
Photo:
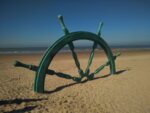
M 44 85 L 45 85 L 45 76 L 46 76 L 46 70 L 51 64 L 51 61 L 53 60 L 54 56 L 63 48 L 65 45 L 68 45 L 76 40 L 90 40 L 93 42 L 96 42 L 98 45 L 102 47 L 104 50 L 108 61 L 110 61 L 110 74 L 114 74 L 116 72 L 115 69 L 115 62 L 113 58 L 113 54 L 111 52 L 111 49 L 109 48 L 108 44 L 98 35 L 90 33 L 90 32 L 72 32 L 68 35 L 65 35 L 61 37 L 59 40 L 57 40 L 51 47 L 49 47 L 44 56 L 42 57 L 42 60 L 39 64 L 38 71 L 36 72 L 36 77 L 34 81 L 34 91 L 38 93 L 44 92 Z

